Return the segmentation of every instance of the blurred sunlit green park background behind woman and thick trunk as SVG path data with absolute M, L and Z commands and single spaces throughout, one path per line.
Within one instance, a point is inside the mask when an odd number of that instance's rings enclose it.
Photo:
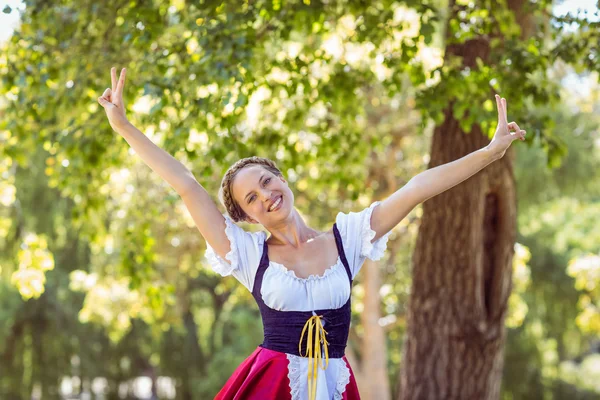
M 209 399 L 262 341 L 250 293 L 210 270 L 179 196 L 111 130 L 96 102 L 111 66 L 128 68 L 129 119 L 215 201 L 229 165 L 269 157 L 317 229 L 431 166 L 449 120 L 491 137 L 506 97 L 527 141 L 503 159 L 517 236 L 499 396 L 600 398 L 595 0 L 0 10 L 0 399 Z M 348 357 L 367 400 L 406 398 L 425 211 L 355 282 Z

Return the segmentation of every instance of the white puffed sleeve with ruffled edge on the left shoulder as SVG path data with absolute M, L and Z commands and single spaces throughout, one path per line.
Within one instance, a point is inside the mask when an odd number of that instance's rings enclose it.
M 225 217 L 225 234 L 231 247 L 229 253 L 225 255 L 227 260 L 215 253 L 208 243 L 206 243 L 205 257 L 213 271 L 222 276 L 233 275 L 249 291 L 252 291 L 266 234 L 247 232 L 237 226 L 228 215 L 223 214 L 223 217 Z

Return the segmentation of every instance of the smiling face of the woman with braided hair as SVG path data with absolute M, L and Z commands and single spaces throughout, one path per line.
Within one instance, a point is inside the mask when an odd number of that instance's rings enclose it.
M 231 186 L 233 198 L 248 215 L 248 222 L 273 225 L 285 220 L 293 209 L 294 195 L 287 181 L 260 165 L 241 169 Z

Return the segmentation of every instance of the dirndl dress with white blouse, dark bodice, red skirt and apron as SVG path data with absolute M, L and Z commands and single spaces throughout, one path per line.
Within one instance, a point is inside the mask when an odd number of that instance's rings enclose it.
M 233 275 L 258 304 L 264 339 L 219 391 L 218 400 L 360 399 L 344 355 L 351 317 L 352 282 L 366 260 L 383 256 L 387 233 L 371 243 L 375 202 L 361 212 L 338 213 L 333 233 L 337 263 L 323 275 L 298 278 L 270 261 L 265 232 L 247 232 L 227 215 L 231 251 L 206 257 L 223 276 Z

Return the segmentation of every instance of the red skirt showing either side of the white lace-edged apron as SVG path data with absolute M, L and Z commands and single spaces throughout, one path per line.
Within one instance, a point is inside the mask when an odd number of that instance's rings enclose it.
M 352 368 L 346 357 L 342 360 L 350 371 L 342 399 L 360 400 Z M 235 370 L 215 400 L 292 400 L 288 365 L 285 353 L 258 347 Z

